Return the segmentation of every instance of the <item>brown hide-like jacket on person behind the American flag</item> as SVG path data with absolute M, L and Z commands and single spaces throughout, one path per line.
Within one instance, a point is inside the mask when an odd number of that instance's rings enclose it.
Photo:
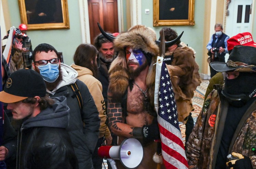
M 172 54 L 173 61 L 171 65 L 167 65 L 167 69 L 175 94 L 178 119 L 183 122 L 184 118 L 194 110 L 191 98 L 201 83 L 199 67 L 195 61 L 195 53 L 187 46 L 178 47 L 174 52 L 167 52 L 165 55 Z

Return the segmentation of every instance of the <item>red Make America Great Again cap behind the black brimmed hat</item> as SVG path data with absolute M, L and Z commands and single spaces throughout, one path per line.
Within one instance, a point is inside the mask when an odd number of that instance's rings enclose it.
M 236 45 L 253 46 L 256 47 L 256 43 L 253 41 L 252 34 L 250 32 L 239 33 L 227 40 L 228 51 L 232 50 Z

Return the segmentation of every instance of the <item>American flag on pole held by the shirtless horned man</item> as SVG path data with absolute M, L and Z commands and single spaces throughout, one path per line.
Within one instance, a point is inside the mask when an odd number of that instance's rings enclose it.
M 187 169 L 188 163 L 177 118 L 174 93 L 165 62 L 157 58 L 155 108 L 161 137 L 163 163 L 167 169 Z

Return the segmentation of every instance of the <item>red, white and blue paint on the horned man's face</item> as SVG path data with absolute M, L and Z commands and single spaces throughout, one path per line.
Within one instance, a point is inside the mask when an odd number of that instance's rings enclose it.
M 140 66 L 146 60 L 145 55 L 143 54 L 142 50 L 140 50 L 140 49 L 132 50 L 129 47 L 126 49 L 126 59 L 127 59 L 127 61 L 133 60 L 134 62 L 138 62 Z

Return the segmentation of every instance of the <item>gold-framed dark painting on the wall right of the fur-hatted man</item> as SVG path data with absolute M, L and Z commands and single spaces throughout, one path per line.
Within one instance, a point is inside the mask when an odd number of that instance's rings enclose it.
M 153 26 L 195 25 L 195 0 L 153 0 Z

